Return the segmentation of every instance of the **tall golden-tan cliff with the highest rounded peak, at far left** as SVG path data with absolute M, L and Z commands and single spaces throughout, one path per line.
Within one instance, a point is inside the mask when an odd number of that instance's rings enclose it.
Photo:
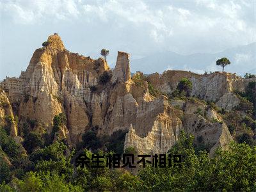
M 20 120 L 36 120 L 51 132 L 52 119 L 67 115 L 73 142 L 89 125 L 86 102 L 92 100 L 90 86 L 109 67 L 106 61 L 92 60 L 65 49 L 60 36 L 48 38 L 49 45 L 34 52 L 26 72 L 19 79 L 7 78 L 2 86 L 10 101 L 19 104 Z

